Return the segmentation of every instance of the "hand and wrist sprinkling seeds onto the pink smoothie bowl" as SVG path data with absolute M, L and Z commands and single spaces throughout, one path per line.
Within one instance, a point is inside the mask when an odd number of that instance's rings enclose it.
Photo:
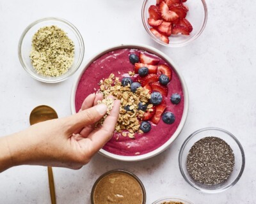
M 120 101 L 104 124 L 94 129 L 107 112 L 106 105 L 97 105 L 102 94 L 90 94 L 79 113 L 62 119 L 47 120 L 7 136 L 12 166 L 36 164 L 79 169 L 113 136 L 119 115 Z

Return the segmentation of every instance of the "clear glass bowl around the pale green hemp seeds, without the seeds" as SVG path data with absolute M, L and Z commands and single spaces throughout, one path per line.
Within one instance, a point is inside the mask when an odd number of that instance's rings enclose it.
M 45 77 L 36 73 L 36 70 L 33 68 L 29 58 L 34 34 L 41 27 L 51 25 L 56 25 L 63 29 L 63 31 L 67 33 L 68 38 L 70 38 L 75 45 L 74 62 L 68 71 L 59 77 Z M 18 53 L 22 67 L 29 73 L 29 75 L 31 75 L 31 77 L 41 82 L 57 83 L 66 80 L 68 77 L 73 75 L 81 65 L 84 57 L 84 41 L 77 28 L 67 20 L 54 17 L 42 18 L 28 25 L 28 27 L 22 33 L 19 40 Z

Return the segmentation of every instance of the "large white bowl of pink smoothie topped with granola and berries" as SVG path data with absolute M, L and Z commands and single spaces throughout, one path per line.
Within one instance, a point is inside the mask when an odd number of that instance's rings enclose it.
M 74 83 L 71 110 L 94 92 L 121 100 L 116 131 L 100 154 L 140 161 L 163 152 L 188 115 L 188 90 L 173 61 L 145 45 L 112 47 L 86 63 Z

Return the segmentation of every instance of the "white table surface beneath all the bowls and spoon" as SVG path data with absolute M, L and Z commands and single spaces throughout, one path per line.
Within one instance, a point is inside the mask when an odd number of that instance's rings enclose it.
M 20 34 L 28 24 L 42 17 L 65 18 L 84 38 L 83 64 L 100 50 L 121 43 L 143 43 L 168 54 L 186 80 L 190 107 L 179 138 L 159 156 L 125 163 L 98 154 L 78 171 L 54 168 L 58 203 L 90 203 L 95 180 L 116 168 L 132 171 L 141 179 L 147 203 L 163 196 L 180 196 L 194 203 L 256 203 L 256 2 L 207 1 L 209 20 L 204 33 L 181 48 L 162 47 L 149 38 L 141 22 L 142 3 L 0 0 L 0 135 L 27 128 L 29 113 L 38 105 L 52 106 L 60 117 L 70 114 L 70 92 L 77 73 L 60 84 L 43 84 L 29 77 L 17 55 Z M 209 126 L 233 133 L 246 155 L 239 182 L 219 194 L 199 193 L 186 183 L 178 167 L 182 142 L 193 131 Z M 0 203 L 51 203 L 47 168 L 19 166 L 1 173 Z

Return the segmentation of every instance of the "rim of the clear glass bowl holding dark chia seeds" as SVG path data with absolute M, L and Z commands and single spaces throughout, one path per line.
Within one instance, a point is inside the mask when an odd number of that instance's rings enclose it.
M 241 156 L 242 156 L 242 165 L 241 165 L 241 170 L 239 171 L 239 175 L 237 175 L 236 179 L 229 184 L 228 186 L 225 186 L 221 189 L 202 189 L 200 187 L 197 187 L 196 185 L 194 185 L 193 183 L 191 183 L 189 181 L 189 179 L 186 177 L 186 174 L 184 173 L 184 170 L 182 168 L 182 154 L 184 152 L 184 148 L 186 147 L 187 143 L 189 142 L 189 140 L 191 140 L 191 138 L 193 138 L 193 136 L 197 135 L 198 133 L 201 133 L 203 131 L 208 131 L 208 130 L 215 130 L 215 131 L 221 131 L 223 133 L 226 133 L 228 136 L 230 136 L 238 145 L 239 149 L 241 150 Z M 215 128 L 215 127 L 209 127 L 209 128 L 202 128 L 202 129 L 198 129 L 197 131 L 195 131 L 194 133 L 192 133 L 191 135 L 188 136 L 188 138 L 186 138 L 186 140 L 184 141 L 184 143 L 182 143 L 182 146 L 180 147 L 180 152 L 179 152 L 179 169 L 180 169 L 180 173 L 182 175 L 182 177 L 186 180 L 186 182 L 188 182 L 188 184 L 192 187 L 194 187 L 196 190 L 203 192 L 203 193 L 221 193 L 227 189 L 230 189 L 230 187 L 234 186 L 238 180 L 241 178 L 241 176 L 243 175 L 243 171 L 244 171 L 244 166 L 245 166 L 245 156 L 244 156 L 244 149 L 241 145 L 241 143 L 239 142 L 239 140 L 237 140 L 236 136 L 232 135 L 232 133 L 228 132 L 225 129 L 221 129 L 221 128 Z

